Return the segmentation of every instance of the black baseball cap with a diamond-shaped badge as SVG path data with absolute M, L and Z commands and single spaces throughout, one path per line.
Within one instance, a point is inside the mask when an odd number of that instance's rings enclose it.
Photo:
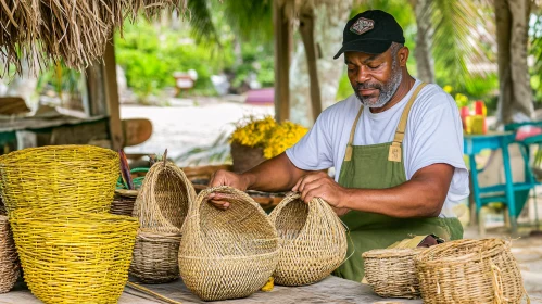
M 392 42 L 405 42 L 403 28 L 395 18 L 380 10 L 365 11 L 346 23 L 342 34 L 342 48 L 333 59 L 349 51 L 380 54 Z

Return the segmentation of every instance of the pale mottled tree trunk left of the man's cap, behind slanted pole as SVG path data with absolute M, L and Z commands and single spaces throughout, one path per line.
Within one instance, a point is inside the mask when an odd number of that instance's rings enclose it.
M 344 63 L 342 59 L 333 60 L 333 55 L 342 46 L 342 30 L 349 20 L 352 3 L 353 0 L 343 0 L 313 7 L 317 79 L 323 110 L 337 102 L 337 89 L 344 71 Z M 310 102 L 311 78 L 308 75 L 305 50 L 303 43 L 298 42 L 290 69 L 290 118 L 292 122 L 307 127 L 314 124 Z

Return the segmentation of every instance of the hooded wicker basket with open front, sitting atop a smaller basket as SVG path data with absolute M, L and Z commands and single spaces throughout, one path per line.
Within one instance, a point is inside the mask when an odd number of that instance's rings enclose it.
M 148 231 L 180 233 L 194 199 L 196 191 L 185 173 L 171 162 L 159 162 L 146 175 L 134 216 Z

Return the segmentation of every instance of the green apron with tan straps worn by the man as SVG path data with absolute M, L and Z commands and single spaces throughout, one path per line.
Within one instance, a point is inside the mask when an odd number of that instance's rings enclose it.
M 420 84 L 408 100 L 392 142 L 352 145 L 363 106 L 350 132 L 339 183 L 346 188 L 385 189 L 405 181 L 402 142 L 412 104 L 425 84 Z M 350 211 L 341 217 L 349 227 L 349 250 L 344 264 L 333 275 L 353 281 L 362 281 L 364 265 L 362 253 L 385 249 L 411 236 L 436 235 L 444 240 L 463 238 L 463 227 L 457 218 L 394 218 L 376 213 Z M 350 238 L 352 240 L 350 240 Z M 354 251 L 355 249 L 355 251 Z

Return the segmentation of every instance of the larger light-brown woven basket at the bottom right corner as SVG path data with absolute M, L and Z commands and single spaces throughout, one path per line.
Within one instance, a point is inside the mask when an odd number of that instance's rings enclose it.
M 520 303 L 521 274 L 500 239 L 457 240 L 416 257 L 424 303 Z

